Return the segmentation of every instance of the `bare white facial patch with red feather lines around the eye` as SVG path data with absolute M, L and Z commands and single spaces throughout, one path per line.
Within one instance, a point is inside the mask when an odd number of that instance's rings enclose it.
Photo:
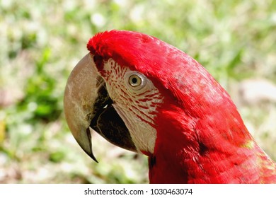
M 163 96 L 143 74 L 120 66 L 113 59 L 104 63 L 103 76 L 113 107 L 130 131 L 138 151 L 154 153 L 154 119 Z

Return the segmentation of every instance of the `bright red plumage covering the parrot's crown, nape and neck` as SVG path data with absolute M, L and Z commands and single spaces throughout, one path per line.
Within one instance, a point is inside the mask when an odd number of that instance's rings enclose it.
M 112 58 L 164 96 L 149 156 L 151 183 L 270 183 L 276 165 L 255 143 L 228 93 L 195 59 L 156 37 L 98 33 L 88 42 L 98 70 Z

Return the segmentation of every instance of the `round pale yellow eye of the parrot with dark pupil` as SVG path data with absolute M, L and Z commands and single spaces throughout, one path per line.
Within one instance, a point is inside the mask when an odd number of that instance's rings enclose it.
M 146 85 L 146 80 L 146 76 L 140 74 L 137 71 L 127 74 L 128 85 L 130 86 L 130 88 L 132 88 L 132 90 L 135 91 L 144 88 L 144 86 Z

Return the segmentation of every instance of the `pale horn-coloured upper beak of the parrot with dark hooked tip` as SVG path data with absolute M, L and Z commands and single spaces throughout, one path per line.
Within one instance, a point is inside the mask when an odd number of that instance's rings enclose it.
M 98 96 L 97 77 L 93 58 L 91 54 L 86 54 L 71 72 L 64 92 L 64 113 L 69 129 L 79 146 L 96 162 L 89 125 L 92 107 Z

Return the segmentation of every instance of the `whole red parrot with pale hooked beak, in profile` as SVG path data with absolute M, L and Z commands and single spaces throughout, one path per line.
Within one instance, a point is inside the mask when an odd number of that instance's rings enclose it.
M 151 183 L 276 183 L 222 86 L 188 54 L 126 30 L 94 35 L 64 93 L 69 129 L 93 160 L 91 129 L 149 158 Z

